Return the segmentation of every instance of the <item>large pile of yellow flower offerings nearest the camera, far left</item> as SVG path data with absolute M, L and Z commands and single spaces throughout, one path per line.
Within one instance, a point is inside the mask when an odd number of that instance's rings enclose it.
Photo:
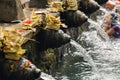
M 23 41 L 24 37 L 16 30 L 6 30 L 4 32 L 3 40 L 3 52 L 5 53 L 5 57 L 9 59 L 19 59 L 26 51 L 25 49 L 21 48 Z

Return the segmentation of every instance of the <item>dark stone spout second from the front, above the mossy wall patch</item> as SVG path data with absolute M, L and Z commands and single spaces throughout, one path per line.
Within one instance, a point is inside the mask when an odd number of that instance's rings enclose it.
M 47 48 L 56 48 L 64 45 L 70 41 L 71 37 L 64 33 L 62 30 L 41 30 L 37 35 L 37 41 L 40 46 L 40 50 L 46 50 Z

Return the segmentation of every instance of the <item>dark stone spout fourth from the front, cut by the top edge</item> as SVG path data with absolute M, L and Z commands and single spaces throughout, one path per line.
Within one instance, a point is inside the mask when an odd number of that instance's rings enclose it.
M 80 0 L 78 2 L 78 10 L 85 14 L 91 14 L 99 9 L 99 5 L 94 0 Z

